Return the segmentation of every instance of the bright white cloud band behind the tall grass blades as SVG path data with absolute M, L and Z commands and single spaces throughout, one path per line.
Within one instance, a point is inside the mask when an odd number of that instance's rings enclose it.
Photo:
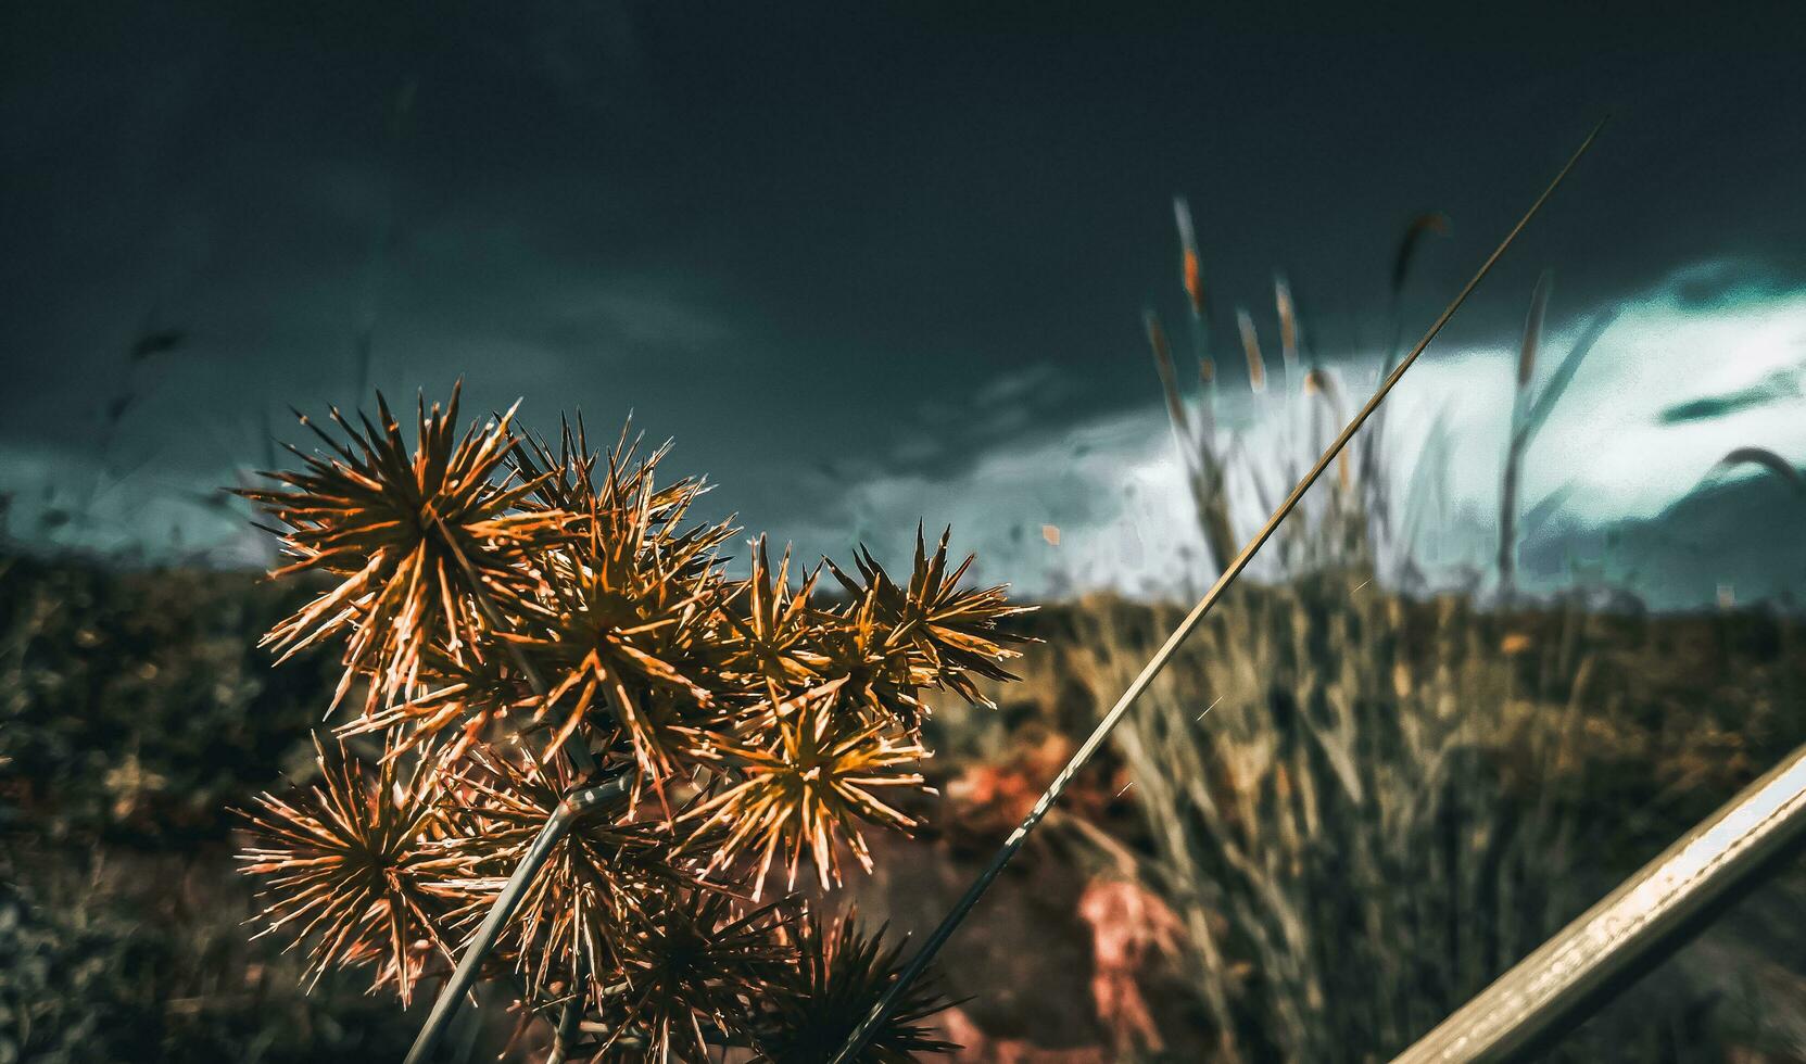
M 1548 334 L 1539 387 L 1587 318 L 1575 314 Z M 1698 486 L 1736 446 L 1768 446 L 1806 462 L 1806 410 L 1797 399 L 1708 421 L 1662 421 L 1678 403 L 1736 392 L 1802 363 L 1806 293 L 1696 307 L 1669 285 L 1627 303 L 1533 441 L 1524 506 L 1566 490 L 1564 511 L 1580 524 L 1649 517 Z M 1436 479 L 1432 468 L 1445 470 L 1445 493 L 1432 491 L 1423 522 L 1436 560 L 1483 564 L 1492 556 L 1515 365 L 1515 343 L 1432 347 L 1389 401 L 1385 450 L 1394 481 L 1416 477 L 1425 461 L 1425 482 Z M 1340 367 L 1344 406 L 1353 410 L 1374 376 L 1373 361 Z M 1150 374 L 1150 394 L 1154 387 Z M 1279 482 L 1279 459 L 1293 475 L 1315 459 L 1302 443 L 1302 421 L 1288 423 L 1271 394 L 1226 403 L 1223 417 L 1237 423 L 1241 453 L 1268 462 L 1270 491 L 1289 488 L 1289 479 Z M 1447 446 L 1430 453 L 1425 439 L 1438 417 Z M 1243 533 L 1264 517 L 1246 475 L 1232 484 L 1232 506 Z M 872 477 L 851 488 L 838 511 L 780 531 L 811 551 L 861 538 L 901 564 L 908 549 L 901 531 L 914 529 L 917 517 L 930 531 L 952 524 L 955 544 L 979 553 L 984 578 L 1008 578 L 1024 594 L 1103 585 L 1172 593 L 1187 585 L 1187 574 L 1192 583 L 1203 576 L 1181 462 L 1152 399 L 1057 435 L 997 444 L 952 473 Z M 1044 524 L 1060 529 L 1058 547 L 1044 542 Z

